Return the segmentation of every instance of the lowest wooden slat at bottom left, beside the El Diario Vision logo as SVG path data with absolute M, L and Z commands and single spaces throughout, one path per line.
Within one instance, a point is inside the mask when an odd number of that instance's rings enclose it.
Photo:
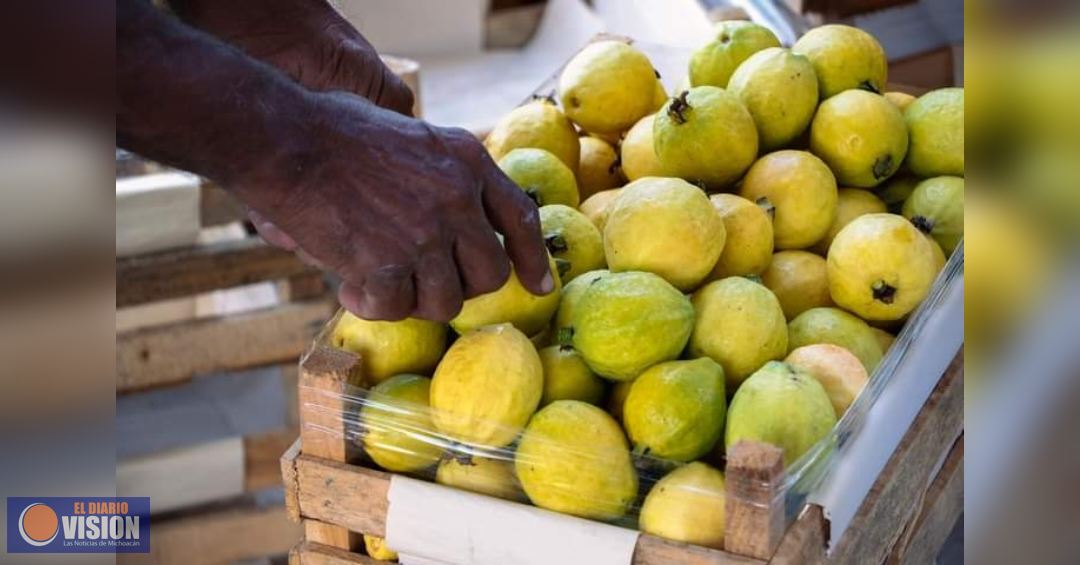
M 150 553 L 119 554 L 117 562 L 186 565 L 272 557 L 287 553 L 301 534 L 281 507 L 188 514 L 154 522 Z

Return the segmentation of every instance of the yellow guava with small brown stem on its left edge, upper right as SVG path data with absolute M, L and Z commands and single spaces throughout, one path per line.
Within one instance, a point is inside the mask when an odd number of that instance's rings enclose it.
M 772 211 L 778 250 L 813 245 L 836 217 L 836 178 L 807 151 L 785 149 L 761 157 L 746 172 L 739 194 Z

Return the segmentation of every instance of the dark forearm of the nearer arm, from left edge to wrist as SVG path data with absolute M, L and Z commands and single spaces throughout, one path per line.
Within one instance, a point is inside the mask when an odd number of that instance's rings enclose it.
M 311 94 L 149 2 L 117 10 L 118 145 L 226 186 L 303 169 Z

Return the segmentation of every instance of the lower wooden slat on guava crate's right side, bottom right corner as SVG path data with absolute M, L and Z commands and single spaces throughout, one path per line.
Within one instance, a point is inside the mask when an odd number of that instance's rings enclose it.
M 963 512 L 963 436 L 953 445 L 945 465 L 927 490 L 915 522 L 902 543 L 893 548 L 889 564 L 933 563 L 953 526 Z

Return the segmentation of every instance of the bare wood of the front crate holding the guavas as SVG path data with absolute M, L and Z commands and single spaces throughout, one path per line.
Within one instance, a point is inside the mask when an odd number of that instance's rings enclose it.
M 360 465 L 356 447 L 346 440 L 341 411 L 326 400 L 345 393 L 357 362 L 349 352 L 316 347 L 301 363 L 300 439 L 281 459 L 286 509 L 305 529 L 291 563 L 370 563 L 362 554 L 360 534 L 386 535 L 391 474 Z M 829 539 L 828 523 L 814 505 L 785 530 L 783 497 L 775 496 L 780 450 L 740 444 L 728 454 L 726 468 L 726 550 L 642 534 L 633 563 L 924 563 L 936 555 L 962 510 L 962 403 L 958 353 L 841 539 Z M 834 550 L 826 556 L 829 543 Z

